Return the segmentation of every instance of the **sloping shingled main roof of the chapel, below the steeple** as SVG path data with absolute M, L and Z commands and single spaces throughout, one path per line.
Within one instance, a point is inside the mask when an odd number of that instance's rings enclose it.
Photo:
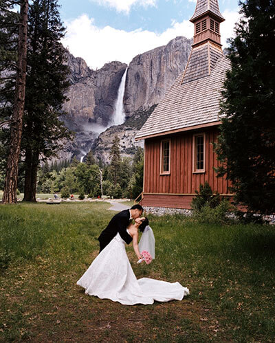
M 208 44 L 210 43 L 206 45 Z M 199 53 L 206 53 L 204 47 Z M 221 88 L 225 72 L 230 69 L 230 60 L 226 56 L 220 56 L 211 68 L 209 74 L 207 68 L 203 67 L 201 70 L 204 70 L 206 76 L 197 79 L 192 76 L 192 80 L 189 79 L 188 82 L 185 82 L 185 78 L 191 76 L 185 75 L 183 80 L 181 74 L 137 133 L 136 140 L 219 122 Z

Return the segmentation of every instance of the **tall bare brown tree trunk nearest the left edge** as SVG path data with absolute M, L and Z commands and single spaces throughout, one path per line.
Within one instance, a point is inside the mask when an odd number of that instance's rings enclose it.
M 17 203 L 18 164 L 23 129 L 25 106 L 25 77 L 27 65 L 28 0 L 21 0 L 19 23 L 19 46 L 17 61 L 17 82 L 15 86 L 14 110 L 10 132 L 10 152 L 5 175 L 2 203 Z

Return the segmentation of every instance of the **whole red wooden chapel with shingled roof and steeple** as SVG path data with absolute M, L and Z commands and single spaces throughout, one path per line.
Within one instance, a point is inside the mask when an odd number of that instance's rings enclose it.
M 221 87 L 230 68 L 221 49 L 218 0 L 197 0 L 190 21 L 195 34 L 186 68 L 136 136 L 145 140 L 142 206 L 189 209 L 205 181 L 230 196 L 228 181 L 213 168 Z

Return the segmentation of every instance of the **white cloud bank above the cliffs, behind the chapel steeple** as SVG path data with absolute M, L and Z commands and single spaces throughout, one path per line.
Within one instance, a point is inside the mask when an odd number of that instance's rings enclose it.
M 233 36 L 234 23 L 239 14 L 226 10 L 223 16 L 226 21 L 221 23 L 221 36 L 223 47 L 226 47 L 226 39 Z M 84 58 L 93 69 L 112 60 L 129 64 L 137 54 L 166 45 L 176 36 L 193 36 L 193 24 L 187 20 L 181 23 L 172 21 L 171 26 L 159 34 L 142 29 L 126 32 L 111 26 L 99 28 L 87 14 L 65 24 L 67 34 L 63 44 L 74 56 Z

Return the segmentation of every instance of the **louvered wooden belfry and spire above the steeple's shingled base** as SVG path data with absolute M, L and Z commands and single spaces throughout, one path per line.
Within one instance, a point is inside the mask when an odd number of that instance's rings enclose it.
M 218 0 L 197 0 L 195 13 L 190 19 L 194 23 L 193 47 L 206 41 L 221 46 L 220 23 L 225 19 L 219 10 Z

